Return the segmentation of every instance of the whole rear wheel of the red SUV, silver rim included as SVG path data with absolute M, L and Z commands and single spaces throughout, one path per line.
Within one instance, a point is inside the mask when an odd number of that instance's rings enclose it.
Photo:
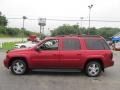
M 89 77 L 99 76 L 101 71 L 102 71 L 102 66 L 99 62 L 96 62 L 96 61 L 91 61 L 91 62 L 87 63 L 87 65 L 85 67 L 85 73 Z

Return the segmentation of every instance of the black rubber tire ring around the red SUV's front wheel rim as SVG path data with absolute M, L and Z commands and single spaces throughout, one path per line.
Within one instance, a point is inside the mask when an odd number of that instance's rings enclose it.
M 14 66 L 14 64 L 17 63 L 17 62 L 21 62 L 21 63 L 24 65 L 24 67 L 25 67 L 24 72 L 22 72 L 22 73 L 20 73 L 20 74 L 16 73 L 16 72 L 13 70 L 13 66 Z M 11 69 L 12 73 L 15 74 L 15 75 L 24 75 L 24 74 L 26 73 L 26 71 L 27 71 L 27 65 L 26 65 L 26 63 L 25 63 L 23 60 L 14 60 L 14 61 L 12 62 L 12 64 L 11 64 L 10 69 Z

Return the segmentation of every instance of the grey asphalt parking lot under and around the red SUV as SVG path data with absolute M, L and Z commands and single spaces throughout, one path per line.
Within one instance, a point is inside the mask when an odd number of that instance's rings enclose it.
M 16 76 L 3 66 L 4 57 L 0 51 L 0 90 L 120 90 L 120 52 L 114 52 L 115 65 L 94 78 L 73 71 Z

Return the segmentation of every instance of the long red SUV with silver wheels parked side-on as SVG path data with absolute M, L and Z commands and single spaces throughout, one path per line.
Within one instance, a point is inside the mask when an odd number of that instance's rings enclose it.
M 114 64 L 112 58 L 112 51 L 101 36 L 56 36 L 33 48 L 8 51 L 4 65 L 16 75 L 31 69 L 67 68 L 84 70 L 95 77 Z

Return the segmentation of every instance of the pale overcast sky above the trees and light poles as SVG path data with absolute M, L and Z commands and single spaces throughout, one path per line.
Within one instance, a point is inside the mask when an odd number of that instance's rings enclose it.
M 0 11 L 7 18 L 88 20 L 88 5 L 93 4 L 91 20 L 120 20 L 120 0 L 0 0 Z M 81 25 L 81 21 L 46 21 L 45 33 L 62 24 Z M 82 22 L 88 27 L 88 21 Z M 22 27 L 22 19 L 8 19 L 8 27 Z M 92 22 L 91 27 L 120 27 L 120 22 Z M 25 28 L 39 32 L 38 20 L 25 20 Z

